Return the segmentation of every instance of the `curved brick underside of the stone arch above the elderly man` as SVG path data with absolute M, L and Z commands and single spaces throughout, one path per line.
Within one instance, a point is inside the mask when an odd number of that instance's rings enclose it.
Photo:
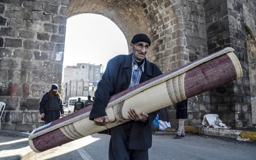
M 70 18 L 77 14 L 94 13 L 113 21 L 130 44 L 132 36 L 145 33 L 151 39 L 147 59 L 156 63 L 163 71 L 184 65 L 186 38 L 181 11 L 175 1 L 162 0 L 152 3 L 142 1 L 74 0 L 68 5 Z M 178 14 L 177 14 L 178 12 Z M 131 53 L 131 50 L 129 50 Z

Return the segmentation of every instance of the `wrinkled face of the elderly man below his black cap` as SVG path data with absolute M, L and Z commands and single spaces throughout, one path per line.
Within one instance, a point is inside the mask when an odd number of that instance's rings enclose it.
M 146 57 L 149 44 L 147 42 L 137 42 L 135 44 L 130 43 L 130 47 L 132 49 L 134 59 L 137 62 L 140 62 Z

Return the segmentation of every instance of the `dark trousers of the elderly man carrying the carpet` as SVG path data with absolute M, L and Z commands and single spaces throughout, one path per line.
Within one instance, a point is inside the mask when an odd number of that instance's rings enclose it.
M 108 157 L 110 160 L 148 160 L 148 149 L 129 149 L 132 123 L 124 123 L 111 129 Z

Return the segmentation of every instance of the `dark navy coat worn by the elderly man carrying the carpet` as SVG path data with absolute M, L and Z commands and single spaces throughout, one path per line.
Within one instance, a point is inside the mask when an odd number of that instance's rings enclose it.
M 93 108 L 90 113 L 90 119 L 96 117 L 107 116 L 105 108 L 108 105 L 111 95 L 117 94 L 126 90 L 129 87 L 132 74 L 132 54 L 117 55 L 109 60 L 102 80 L 98 83 L 95 92 Z M 148 79 L 161 75 L 162 71 L 154 64 L 145 58 L 145 72 L 141 75 L 142 82 Z M 148 114 L 148 123 L 141 121 L 129 121 L 133 123 L 131 129 L 131 137 L 129 148 L 136 150 L 149 149 L 152 144 L 151 123 L 154 121 L 158 111 Z M 124 123 L 125 124 L 125 123 Z M 123 125 L 123 124 L 121 124 Z

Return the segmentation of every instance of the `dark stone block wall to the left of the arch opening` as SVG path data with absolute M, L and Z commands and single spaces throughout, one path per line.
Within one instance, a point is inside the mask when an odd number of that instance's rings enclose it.
M 39 102 L 53 83 L 61 90 L 68 2 L 0 1 L 1 129 L 42 125 Z

